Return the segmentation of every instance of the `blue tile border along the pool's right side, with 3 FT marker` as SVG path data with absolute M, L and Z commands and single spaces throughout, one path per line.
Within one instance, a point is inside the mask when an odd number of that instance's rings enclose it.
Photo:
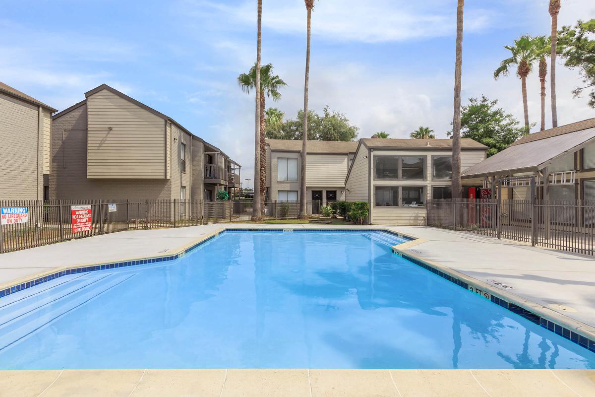
M 410 257 L 407 254 L 403 254 L 403 252 L 397 252 L 393 249 L 393 252 L 400 257 L 412 262 L 419 267 L 424 268 L 425 270 L 431 271 L 437 276 L 442 277 L 443 279 L 449 280 L 449 282 L 458 285 L 459 287 L 463 287 L 469 292 L 475 293 L 476 295 L 480 295 L 485 299 L 488 299 L 490 302 L 499 305 L 500 307 L 505 308 L 508 311 L 511 311 L 515 314 L 520 315 L 521 317 L 531 321 L 531 323 L 537 324 L 541 328 L 547 329 L 555 333 L 556 335 L 562 336 L 565 339 L 570 340 L 571 342 L 576 343 L 577 345 L 588 349 L 591 352 L 595 353 L 595 340 L 589 339 L 588 337 L 579 335 L 578 333 L 572 331 L 571 329 L 566 328 L 565 326 L 555 323 L 554 321 L 550 321 L 545 317 L 541 317 L 539 314 L 536 314 L 530 310 L 525 309 L 524 307 L 506 301 L 506 299 L 500 298 L 499 296 L 494 295 L 491 292 L 487 292 L 484 290 L 479 289 L 473 285 L 470 285 L 468 282 L 463 280 L 459 280 L 456 277 L 451 276 L 450 274 L 444 273 L 443 271 L 428 265 L 427 263 L 418 260 L 417 258 Z

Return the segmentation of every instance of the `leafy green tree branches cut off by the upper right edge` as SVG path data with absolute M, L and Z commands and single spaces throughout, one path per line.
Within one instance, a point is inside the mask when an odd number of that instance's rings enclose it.
M 578 21 L 574 28 L 563 26 L 559 34 L 558 48 L 560 56 L 565 58 L 564 65 L 578 68 L 585 84 L 572 92 L 574 96 L 579 96 L 583 90 L 591 89 L 588 103 L 595 108 L 595 19 Z

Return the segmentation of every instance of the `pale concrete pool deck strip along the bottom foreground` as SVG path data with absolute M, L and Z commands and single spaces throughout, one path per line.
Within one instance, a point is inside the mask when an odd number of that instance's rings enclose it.
M 593 370 L 0 371 L 19 397 L 588 397 Z

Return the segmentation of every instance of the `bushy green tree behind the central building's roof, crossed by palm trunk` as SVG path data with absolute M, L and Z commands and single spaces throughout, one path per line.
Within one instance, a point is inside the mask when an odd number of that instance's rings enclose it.
M 308 140 L 354 140 L 358 136 L 359 128 L 337 111 L 331 111 L 328 106 L 320 115 L 313 110 L 308 111 Z M 267 129 L 269 139 L 302 139 L 303 110 L 297 111 L 295 119 L 289 119 L 276 129 Z

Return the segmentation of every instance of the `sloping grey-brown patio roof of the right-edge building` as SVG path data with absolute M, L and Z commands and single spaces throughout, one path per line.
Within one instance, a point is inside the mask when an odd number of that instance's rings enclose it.
M 584 125 L 580 123 L 568 124 L 568 126 L 577 126 L 578 128 Z M 566 127 L 568 130 L 568 126 L 558 127 L 558 129 Z M 595 126 L 559 134 L 552 134 L 553 130 L 556 129 L 533 134 L 535 137 L 524 140 L 524 143 L 515 143 L 515 145 L 509 146 L 502 152 L 467 168 L 462 173 L 462 177 L 502 176 L 543 170 L 553 160 L 580 150 L 595 138 Z

